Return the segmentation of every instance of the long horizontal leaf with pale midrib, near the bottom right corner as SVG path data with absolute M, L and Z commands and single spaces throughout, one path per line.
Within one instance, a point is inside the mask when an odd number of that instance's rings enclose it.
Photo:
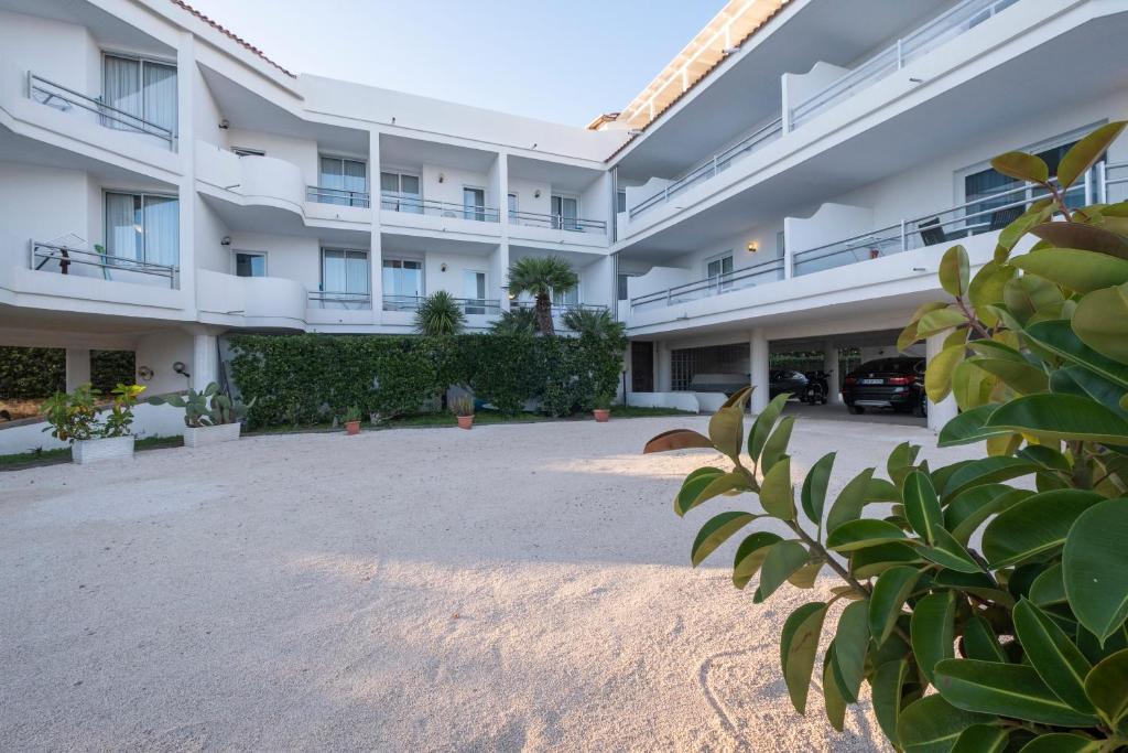
M 936 665 L 935 685 L 945 701 L 967 711 L 1061 727 L 1096 723 L 1095 715 L 1070 708 L 1033 667 L 1021 664 L 944 659 Z

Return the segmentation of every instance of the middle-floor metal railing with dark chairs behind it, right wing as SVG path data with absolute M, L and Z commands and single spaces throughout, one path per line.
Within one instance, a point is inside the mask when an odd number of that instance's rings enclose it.
M 1069 186 L 1065 192 L 1066 200 L 1077 204 L 1089 203 L 1094 195 L 1094 187 L 1092 173 L 1086 173 L 1083 181 Z M 863 235 L 805 248 L 794 255 L 794 273 L 809 274 L 1002 230 L 1026 211 L 1030 203 L 1048 196 L 1049 193 L 1045 190 L 1019 186 L 986 194 L 975 201 L 938 212 L 904 219 L 897 225 Z

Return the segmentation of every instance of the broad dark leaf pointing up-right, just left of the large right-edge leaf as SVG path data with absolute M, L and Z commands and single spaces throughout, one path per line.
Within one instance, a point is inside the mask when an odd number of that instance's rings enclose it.
M 1028 497 L 987 524 L 984 555 L 998 569 L 1054 554 L 1065 544 L 1074 522 L 1100 501 L 1100 494 L 1079 489 Z

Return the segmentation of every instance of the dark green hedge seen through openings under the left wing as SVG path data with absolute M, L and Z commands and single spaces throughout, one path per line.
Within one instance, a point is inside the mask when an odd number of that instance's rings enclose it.
M 108 393 L 117 383 L 133 384 L 133 351 L 90 352 L 90 382 Z M 67 351 L 62 348 L 0 347 L 0 400 L 47 397 L 67 389 Z

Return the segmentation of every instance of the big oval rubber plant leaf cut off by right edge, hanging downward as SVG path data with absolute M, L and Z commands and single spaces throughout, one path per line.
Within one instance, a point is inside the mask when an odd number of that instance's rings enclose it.
M 1103 642 L 1128 616 L 1128 499 L 1098 502 L 1069 529 L 1061 573 L 1073 613 Z

